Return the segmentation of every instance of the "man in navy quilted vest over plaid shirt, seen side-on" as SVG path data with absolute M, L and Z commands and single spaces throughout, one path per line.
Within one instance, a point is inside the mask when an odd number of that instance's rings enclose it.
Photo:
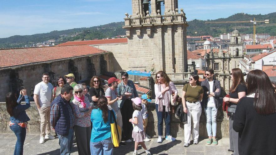
M 70 154 L 74 137 L 74 114 L 70 106 L 73 87 L 64 85 L 61 94 L 51 104 L 50 123 L 59 139 L 60 154 Z

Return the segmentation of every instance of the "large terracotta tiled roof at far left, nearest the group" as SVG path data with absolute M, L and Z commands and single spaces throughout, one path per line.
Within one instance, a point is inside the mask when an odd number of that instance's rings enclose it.
M 107 52 L 88 45 L 0 49 L 0 68 Z

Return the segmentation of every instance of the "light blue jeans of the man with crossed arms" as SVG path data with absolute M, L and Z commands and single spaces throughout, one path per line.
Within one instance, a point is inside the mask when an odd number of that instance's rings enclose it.
M 207 107 L 204 108 L 205 115 L 206 115 L 206 128 L 208 136 L 215 136 L 217 133 L 217 112 L 218 109 L 214 107 Z M 212 134 L 213 133 L 213 134 Z

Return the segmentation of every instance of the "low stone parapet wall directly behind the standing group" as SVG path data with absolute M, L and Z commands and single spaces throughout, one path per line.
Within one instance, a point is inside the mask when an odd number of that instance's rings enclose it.
M 34 104 L 31 102 L 31 107 L 26 110 L 27 115 L 31 119 L 29 121 L 29 129 L 27 130 L 27 134 L 31 133 L 40 133 L 40 116 L 38 110 Z M 149 135 L 158 135 L 157 131 L 157 115 L 155 111 L 155 104 L 151 103 L 148 106 L 148 127 L 146 128 L 146 133 Z M 172 114 L 171 118 L 171 134 L 173 137 L 184 137 L 184 124 L 178 121 L 175 118 L 175 113 Z M 228 137 L 229 136 L 229 119 L 226 116 L 226 113 L 222 111 L 220 107 L 217 113 L 217 138 Z M 9 114 L 6 111 L 6 104 L 0 103 L 0 133 L 12 133 L 9 129 Z M 163 125 L 163 133 L 165 134 L 165 122 Z M 164 135 L 163 134 L 163 135 Z M 199 136 L 200 137 L 208 137 L 206 131 L 206 117 L 205 113 L 202 110 L 200 121 L 199 121 Z

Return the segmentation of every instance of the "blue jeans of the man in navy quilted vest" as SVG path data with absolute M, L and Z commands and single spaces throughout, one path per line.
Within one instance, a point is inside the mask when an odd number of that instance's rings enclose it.
M 70 154 L 73 147 L 74 130 L 69 129 L 69 134 L 67 136 L 62 136 L 57 134 L 57 137 L 58 137 L 58 143 L 61 146 L 60 154 L 61 155 Z

